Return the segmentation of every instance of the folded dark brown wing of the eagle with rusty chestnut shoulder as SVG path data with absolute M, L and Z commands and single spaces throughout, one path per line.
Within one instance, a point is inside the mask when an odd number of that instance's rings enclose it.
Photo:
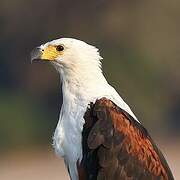
M 84 118 L 80 180 L 174 179 L 147 131 L 110 100 L 97 100 Z

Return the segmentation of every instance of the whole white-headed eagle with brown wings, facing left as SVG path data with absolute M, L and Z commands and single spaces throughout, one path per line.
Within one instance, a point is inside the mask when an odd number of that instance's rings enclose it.
M 71 180 L 173 180 L 166 159 L 102 71 L 99 49 L 59 38 L 31 52 L 57 70 L 63 103 L 53 147 Z

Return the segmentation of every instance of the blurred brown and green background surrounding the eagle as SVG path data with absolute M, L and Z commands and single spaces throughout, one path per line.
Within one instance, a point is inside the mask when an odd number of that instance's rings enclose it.
M 30 64 L 60 37 L 100 49 L 104 74 L 180 179 L 180 1 L 1 0 L 0 179 L 68 179 L 52 149 L 62 103 L 59 75 Z

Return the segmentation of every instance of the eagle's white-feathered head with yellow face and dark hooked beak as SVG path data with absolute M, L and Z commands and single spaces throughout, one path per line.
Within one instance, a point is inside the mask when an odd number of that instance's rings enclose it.
M 60 38 L 40 45 L 31 52 L 34 60 L 48 61 L 63 74 L 101 71 L 101 56 L 96 47 L 73 38 Z M 84 72 L 84 73 L 83 73 Z M 92 75 L 91 71 L 91 75 Z

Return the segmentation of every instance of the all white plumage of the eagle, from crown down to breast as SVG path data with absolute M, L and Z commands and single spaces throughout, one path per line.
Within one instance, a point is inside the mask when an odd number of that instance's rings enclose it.
M 107 97 L 137 120 L 129 106 L 110 86 L 101 70 L 98 49 L 83 41 L 61 38 L 44 45 L 63 45 L 64 53 L 51 61 L 60 74 L 63 105 L 53 137 L 56 153 L 65 159 L 73 180 L 78 180 L 77 161 L 82 159 L 82 129 L 84 113 L 90 102 Z

